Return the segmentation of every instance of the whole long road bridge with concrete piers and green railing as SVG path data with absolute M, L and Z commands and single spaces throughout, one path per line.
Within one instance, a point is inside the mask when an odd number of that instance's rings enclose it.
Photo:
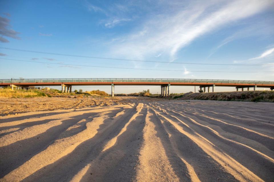
M 238 91 L 244 88 L 257 87 L 274 89 L 274 81 L 252 80 L 212 80 L 212 79 L 176 79 L 176 78 L 49 78 L 49 79 L 0 79 L 0 86 L 14 88 L 26 88 L 30 86 L 62 86 L 63 92 L 71 92 L 76 85 L 111 85 L 111 95 L 114 96 L 114 85 L 159 85 L 161 96 L 170 95 L 170 86 L 200 86 L 204 92 L 214 92 L 215 86 L 235 87 Z

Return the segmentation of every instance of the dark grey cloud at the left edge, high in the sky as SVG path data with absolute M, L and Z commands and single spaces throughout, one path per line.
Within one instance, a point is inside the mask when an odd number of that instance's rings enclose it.
M 10 29 L 10 20 L 8 18 L 4 18 L 0 16 L 0 42 L 7 43 L 9 40 L 4 38 L 3 36 L 14 38 L 20 40 L 21 38 L 17 35 L 20 34 L 20 32 L 16 32 L 13 29 Z

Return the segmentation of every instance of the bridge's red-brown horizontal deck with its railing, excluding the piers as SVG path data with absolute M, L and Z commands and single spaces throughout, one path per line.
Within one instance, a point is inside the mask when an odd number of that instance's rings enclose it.
M 254 86 L 273 88 L 274 81 L 254 80 L 212 80 L 212 79 L 176 79 L 176 78 L 50 78 L 50 79 L 0 79 L 0 86 L 10 84 L 22 86 L 59 86 L 68 85 L 163 85 L 173 86 Z

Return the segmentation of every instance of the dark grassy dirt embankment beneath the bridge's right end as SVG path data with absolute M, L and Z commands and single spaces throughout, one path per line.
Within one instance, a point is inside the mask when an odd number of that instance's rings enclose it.
M 173 95 L 171 99 L 178 100 L 220 100 L 220 101 L 249 101 L 249 102 L 274 102 L 273 91 L 243 91 L 243 92 L 210 92 Z

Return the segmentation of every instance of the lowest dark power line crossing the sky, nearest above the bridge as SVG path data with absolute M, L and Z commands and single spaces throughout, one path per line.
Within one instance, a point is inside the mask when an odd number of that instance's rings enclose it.
M 0 58 L 5 59 L 5 58 Z M 24 61 L 24 62 L 31 62 L 31 63 L 44 63 L 44 64 L 54 64 L 54 65 L 68 65 L 68 66 L 84 66 L 84 67 L 96 67 L 96 68 L 114 68 L 114 69 L 134 69 L 134 70 L 151 70 L 151 71 L 180 71 L 180 72 L 187 72 L 184 70 L 165 70 L 165 69 L 144 69 L 144 68 L 122 68 L 122 67 L 106 67 L 106 66 L 90 66 L 90 65 L 72 65 L 72 64 L 62 64 L 62 63 L 47 63 L 47 62 L 40 62 L 40 61 L 25 61 L 25 60 L 18 60 L 18 59 L 6 59 L 12 61 Z M 210 73 L 272 73 L 274 71 L 188 71 L 188 72 L 210 72 Z

